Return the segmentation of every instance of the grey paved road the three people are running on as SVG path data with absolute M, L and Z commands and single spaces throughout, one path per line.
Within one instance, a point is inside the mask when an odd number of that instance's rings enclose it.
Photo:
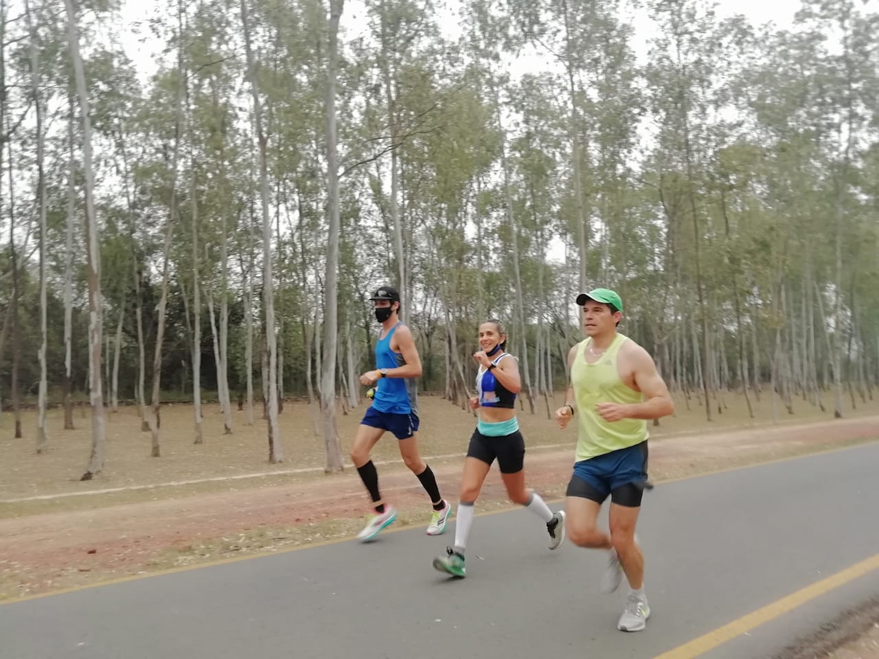
M 386 533 L 0 605 L 0 659 L 653 657 L 874 556 L 876 465 L 879 444 L 657 485 L 639 634 L 616 630 L 625 592 L 599 592 L 603 555 L 548 551 L 518 510 L 476 518 L 465 580 L 431 567 L 451 526 Z M 879 569 L 803 611 L 814 624 L 861 590 L 879 591 Z M 796 616 L 706 656 L 765 656 Z

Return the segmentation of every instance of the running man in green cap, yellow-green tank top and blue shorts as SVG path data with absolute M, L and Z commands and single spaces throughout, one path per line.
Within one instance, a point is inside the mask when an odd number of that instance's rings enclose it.
M 644 559 L 635 537 L 647 482 L 647 421 L 672 414 L 674 404 L 650 354 L 617 332 L 620 296 L 597 288 L 580 293 L 577 304 L 587 338 L 568 353 L 570 386 L 564 407 L 556 410 L 562 428 L 574 416 L 578 422 L 565 501 L 567 534 L 579 547 L 607 551 L 602 590 L 613 592 L 626 575 L 630 591 L 617 628 L 637 632 L 650 616 Z M 609 534 L 596 525 L 608 496 Z

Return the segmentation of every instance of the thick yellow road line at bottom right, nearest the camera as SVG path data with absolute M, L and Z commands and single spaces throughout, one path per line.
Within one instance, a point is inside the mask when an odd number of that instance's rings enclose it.
M 781 599 L 776 600 L 772 604 L 763 606 L 724 626 L 717 627 L 708 632 L 708 634 L 702 634 L 693 641 L 679 645 L 677 648 L 672 648 L 661 655 L 656 655 L 653 659 L 693 659 L 694 657 L 704 655 L 708 650 L 714 649 L 726 641 L 731 641 L 746 632 L 750 632 L 754 627 L 763 625 L 787 612 L 793 611 L 798 606 L 802 606 L 816 597 L 839 588 L 839 586 L 865 576 L 877 568 L 879 568 L 879 554 L 870 556 L 868 559 L 840 570 L 834 575 L 827 576 L 801 590 L 797 590 L 787 597 L 781 597 Z

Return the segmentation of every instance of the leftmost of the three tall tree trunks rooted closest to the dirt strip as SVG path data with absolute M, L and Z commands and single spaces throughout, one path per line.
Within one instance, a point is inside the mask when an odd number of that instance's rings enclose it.
M 76 11 L 73 0 L 64 0 L 67 8 L 67 33 L 69 54 L 73 60 L 76 91 L 79 96 L 79 109 L 83 122 L 83 172 L 85 177 L 85 243 L 87 246 L 87 269 L 89 283 L 89 337 L 91 339 L 91 456 L 89 466 L 82 476 L 88 481 L 104 468 L 105 426 L 104 397 L 101 384 L 101 269 L 98 250 L 98 219 L 95 216 L 94 177 L 91 169 L 91 118 L 89 114 L 89 92 L 85 86 L 85 69 L 79 55 L 79 34 L 76 27 Z

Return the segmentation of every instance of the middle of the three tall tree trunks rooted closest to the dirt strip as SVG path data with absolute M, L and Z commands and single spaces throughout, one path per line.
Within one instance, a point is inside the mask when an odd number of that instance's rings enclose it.
M 263 131 L 263 112 L 259 101 L 256 66 L 251 47 L 251 28 L 249 25 L 247 0 L 241 0 L 241 19 L 244 31 L 244 47 L 247 54 L 247 77 L 251 83 L 253 98 L 253 119 L 256 123 L 259 142 L 259 194 L 262 202 L 263 219 L 263 308 L 265 313 L 265 344 L 268 360 L 266 412 L 269 432 L 269 462 L 276 464 L 284 460 L 278 425 L 278 354 L 275 336 L 274 290 L 272 278 L 272 223 L 269 221 L 269 182 L 268 156 L 266 153 L 268 137 Z M 265 380 L 264 380 L 265 382 Z

